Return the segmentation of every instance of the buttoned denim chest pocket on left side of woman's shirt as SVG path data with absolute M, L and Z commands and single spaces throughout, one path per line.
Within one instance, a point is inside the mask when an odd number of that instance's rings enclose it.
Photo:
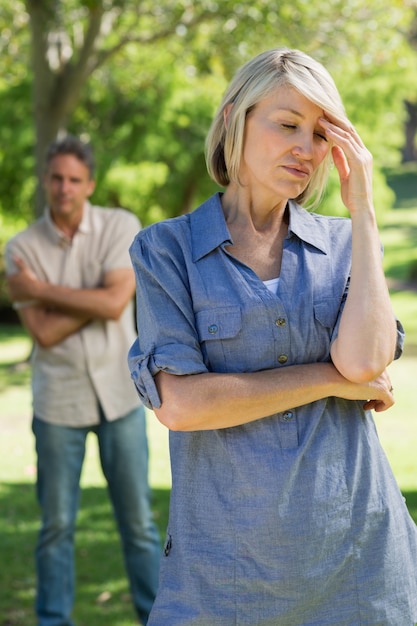
M 196 313 L 201 350 L 208 368 L 216 372 L 236 371 L 242 360 L 239 335 L 242 311 L 238 306 L 217 307 Z

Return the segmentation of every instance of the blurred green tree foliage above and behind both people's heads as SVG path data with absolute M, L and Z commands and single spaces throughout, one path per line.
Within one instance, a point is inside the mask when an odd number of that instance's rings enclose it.
M 204 138 L 226 83 L 277 45 L 329 68 L 379 162 L 392 162 L 415 83 L 414 10 L 413 0 L 3 0 L 1 211 L 42 210 L 39 186 L 32 197 L 44 151 L 63 130 L 94 145 L 95 201 L 144 224 L 189 210 L 214 189 Z

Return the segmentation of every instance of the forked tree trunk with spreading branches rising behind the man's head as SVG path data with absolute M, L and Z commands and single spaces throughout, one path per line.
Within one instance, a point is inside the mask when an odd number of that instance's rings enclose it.
M 124 0 L 26 0 L 33 59 L 36 166 L 47 145 L 67 127 L 90 76 L 129 44 L 149 46 L 203 18 L 188 3 Z M 37 212 L 43 192 L 37 189 Z

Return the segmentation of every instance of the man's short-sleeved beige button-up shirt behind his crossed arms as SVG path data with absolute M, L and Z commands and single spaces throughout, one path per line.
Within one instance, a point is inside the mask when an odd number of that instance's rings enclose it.
M 131 267 L 129 246 L 140 230 L 123 209 L 86 203 L 80 227 L 69 240 L 49 210 L 6 246 L 6 271 L 16 271 L 20 256 L 41 280 L 73 288 L 94 288 L 114 269 Z M 32 354 L 34 414 L 46 422 L 88 426 L 99 422 L 98 403 L 108 420 L 139 405 L 130 378 L 127 352 L 136 338 L 133 300 L 120 319 L 96 320 L 59 344 Z

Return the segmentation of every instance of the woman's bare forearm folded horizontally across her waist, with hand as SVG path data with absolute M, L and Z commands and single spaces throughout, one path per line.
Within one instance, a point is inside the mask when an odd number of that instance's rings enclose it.
M 176 376 L 159 372 L 161 399 L 154 412 L 171 430 L 238 426 L 330 396 L 363 400 L 364 408 L 385 411 L 394 404 L 386 372 L 369 383 L 352 383 L 332 363 L 292 365 L 244 374 Z

